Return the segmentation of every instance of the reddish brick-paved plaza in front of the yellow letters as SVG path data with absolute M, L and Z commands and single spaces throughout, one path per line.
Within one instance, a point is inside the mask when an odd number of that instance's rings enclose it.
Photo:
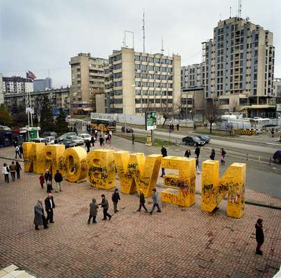
M 1 151 L 3 156 L 3 151 Z M 1 165 L 6 161 L 0 159 Z M 10 163 L 10 161 L 7 161 Z M 163 204 L 162 213 L 138 208 L 137 195 L 122 195 L 111 221 L 87 224 L 90 200 L 104 193 L 113 213 L 113 190 L 63 181 L 54 193 L 54 224 L 35 231 L 33 206 L 45 199 L 38 175 L 22 173 L 15 183 L 0 181 L 0 267 L 12 263 L 36 277 L 273 277 L 281 261 L 281 211 L 246 205 L 239 220 L 216 213 Z M 161 190 L 161 179 L 158 181 Z M 246 190 L 246 199 L 280 200 Z M 147 199 L 147 207 L 151 207 Z M 255 254 L 255 221 L 264 219 L 264 256 Z

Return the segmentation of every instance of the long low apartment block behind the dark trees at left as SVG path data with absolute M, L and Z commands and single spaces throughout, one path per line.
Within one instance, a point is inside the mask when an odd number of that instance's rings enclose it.
M 26 93 L 9 93 L 4 95 L 5 104 L 9 111 L 13 111 L 15 106 L 25 111 L 26 108 Z M 70 113 L 70 88 L 45 90 L 41 92 L 30 92 L 28 97 L 31 97 L 31 107 L 34 108 L 35 115 L 40 114 L 40 105 L 42 100 L 47 95 L 51 101 L 54 115 L 59 113 L 59 110 L 63 108 L 63 111 Z

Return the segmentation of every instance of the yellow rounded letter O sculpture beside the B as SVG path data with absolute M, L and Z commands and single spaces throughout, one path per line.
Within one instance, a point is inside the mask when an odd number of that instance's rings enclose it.
M 87 153 L 82 147 L 65 149 L 63 154 L 65 178 L 71 182 L 83 181 L 87 177 Z

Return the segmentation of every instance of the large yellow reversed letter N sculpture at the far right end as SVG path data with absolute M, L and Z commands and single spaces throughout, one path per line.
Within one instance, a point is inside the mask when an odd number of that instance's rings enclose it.
M 245 204 L 246 164 L 232 163 L 219 179 L 219 162 L 202 163 L 202 211 L 214 211 L 220 201 L 228 194 L 227 216 L 241 218 Z

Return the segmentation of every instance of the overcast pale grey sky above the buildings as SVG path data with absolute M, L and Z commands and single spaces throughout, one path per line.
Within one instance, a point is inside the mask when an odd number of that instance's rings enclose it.
M 134 31 L 135 49 L 179 54 L 182 65 L 201 62 L 201 42 L 213 36 L 220 19 L 238 10 L 238 0 L 0 0 L 0 72 L 38 78 L 56 88 L 70 85 L 71 56 L 85 52 L 108 58 L 122 47 L 124 30 Z M 242 17 L 273 32 L 275 77 L 281 77 L 281 1 L 242 0 Z M 129 37 L 129 36 L 128 36 Z M 131 45 L 128 38 L 127 44 Z

